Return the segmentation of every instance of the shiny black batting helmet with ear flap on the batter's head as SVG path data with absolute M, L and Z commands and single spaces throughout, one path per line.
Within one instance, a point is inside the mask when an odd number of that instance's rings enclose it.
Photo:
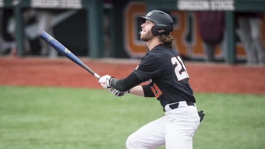
M 152 10 L 148 12 L 146 16 L 140 16 L 139 19 L 143 23 L 145 23 L 145 20 L 155 22 L 156 25 L 151 28 L 151 31 L 155 36 L 169 35 L 174 28 L 174 22 L 172 17 L 168 13 L 160 10 Z M 164 29 L 164 31 L 158 32 L 158 29 Z

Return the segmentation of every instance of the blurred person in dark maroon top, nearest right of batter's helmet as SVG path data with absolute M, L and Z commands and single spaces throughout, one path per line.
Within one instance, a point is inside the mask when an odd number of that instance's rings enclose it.
M 199 32 L 204 42 L 206 61 L 214 61 L 214 51 L 217 44 L 221 44 L 222 53 L 225 52 L 224 14 L 222 11 L 198 11 Z

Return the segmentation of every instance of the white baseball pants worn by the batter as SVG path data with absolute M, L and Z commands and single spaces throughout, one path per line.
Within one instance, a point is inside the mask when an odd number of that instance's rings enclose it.
M 146 124 L 131 134 L 127 149 L 155 149 L 166 144 L 166 149 L 192 149 L 195 130 L 200 118 L 197 108 L 179 102 L 178 108 L 168 111 L 165 116 Z

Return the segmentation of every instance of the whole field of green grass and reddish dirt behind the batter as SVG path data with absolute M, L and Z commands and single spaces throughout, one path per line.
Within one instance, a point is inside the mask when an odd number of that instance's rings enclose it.
M 138 63 L 83 61 L 117 78 Z M 265 67 L 186 68 L 206 114 L 194 149 L 265 149 Z M 131 133 L 163 114 L 155 98 L 113 96 L 67 59 L 0 58 L 0 149 L 125 149 Z

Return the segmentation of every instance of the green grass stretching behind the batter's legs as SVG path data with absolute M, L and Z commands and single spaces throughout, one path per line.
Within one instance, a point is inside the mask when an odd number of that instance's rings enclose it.
M 195 97 L 206 116 L 193 149 L 265 149 L 265 95 Z M 163 114 L 154 98 L 103 89 L 0 86 L 0 149 L 125 149 L 131 133 Z

